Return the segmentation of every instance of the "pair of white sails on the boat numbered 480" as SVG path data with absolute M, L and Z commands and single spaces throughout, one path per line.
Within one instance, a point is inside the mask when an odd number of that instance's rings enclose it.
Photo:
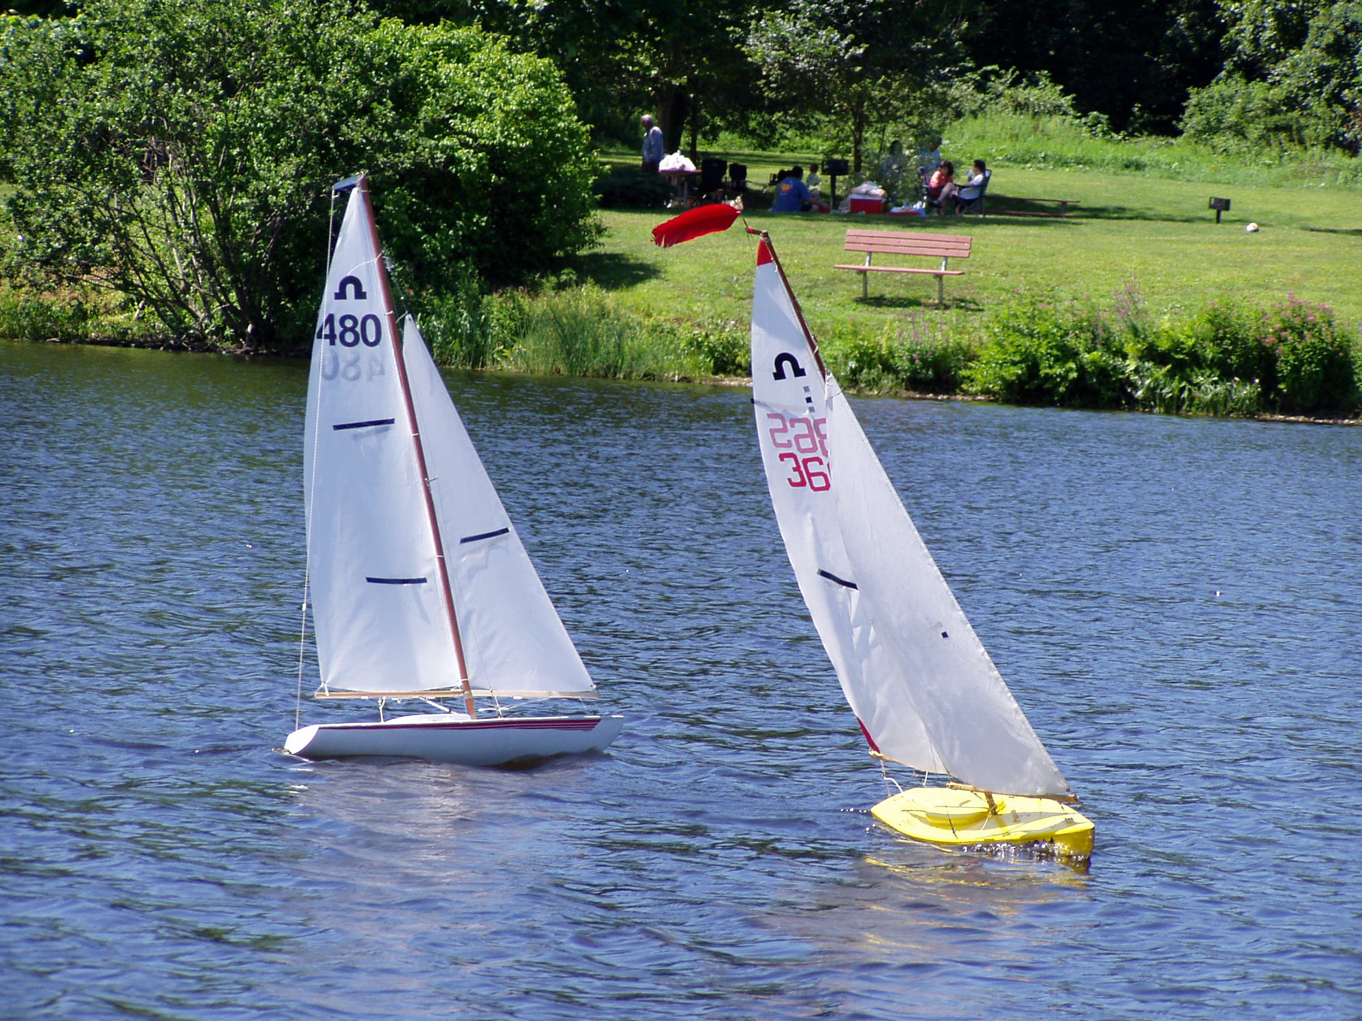
M 364 191 L 353 189 L 308 388 L 308 561 L 323 686 L 426 692 L 463 681 L 413 440 L 419 432 L 473 692 L 591 693 L 414 324 L 403 358 L 410 421 L 370 215 Z

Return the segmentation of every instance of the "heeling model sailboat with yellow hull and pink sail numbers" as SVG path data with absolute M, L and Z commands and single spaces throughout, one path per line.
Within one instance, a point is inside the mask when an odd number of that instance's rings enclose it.
M 764 231 L 752 299 L 757 437 L 799 591 L 870 754 L 945 783 L 873 809 L 934 844 L 1092 852 L 1031 730 L 819 355 Z

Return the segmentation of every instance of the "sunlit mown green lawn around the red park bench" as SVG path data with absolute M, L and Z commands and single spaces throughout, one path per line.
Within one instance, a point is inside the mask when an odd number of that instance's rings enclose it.
M 745 155 L 752 157 L 753 184 L 765 180 L 753 172 L 765 167 L 765 161 L 757 161 L 761 154 Z M 780 165 L 770 162 L 772 169 Z M 998 166 L 990 192 L 1079 199 L 1080 204 L 1071 207 L 1075 216 L 1062 219 L 749 212 L 746 221 L 771 231 L 814 332 L 847 320 L 903 319 L 919 309 L 944 317 L 943 325 L 952 329 L 974 332 L 981 313 L 1017 290 L 1054 289 L 1061 297 L 1109 306 L 1130 282 L 1155 317 L 1181 319 L 1216 298 L 1263 306 L 1294 294 L 1332 306 L 1343 321 L 1362 321 L 1357 287 L 1362 196 L 1354 189 L 1208 185 Z M 1207 208 L 1212 195 L 1233 200 L 1219 225 Z M 993 210 L 1008 206 L 990 201 Z M 614 291 L 627 308 L 695 320 L 745 320 L 755 240 L 742 233 L 742 221 L 725 234 L 659 249 L 650 230 L 669 215 L 602 211 L 603 246 L 582 257 L 577 272 Z M 1250 221 L 1261 231 L 1245 233 Z M 972 256 L 956 264 L 966 274 L 947 280 L 947 308 L 936 308 L 936 280 L 915 275 L 878 274 L 870 282 L 870 298 L 862 301 L 859 275 L 832 268 L 859 261 L 842 250 L 849 226 L 971 236 Z

